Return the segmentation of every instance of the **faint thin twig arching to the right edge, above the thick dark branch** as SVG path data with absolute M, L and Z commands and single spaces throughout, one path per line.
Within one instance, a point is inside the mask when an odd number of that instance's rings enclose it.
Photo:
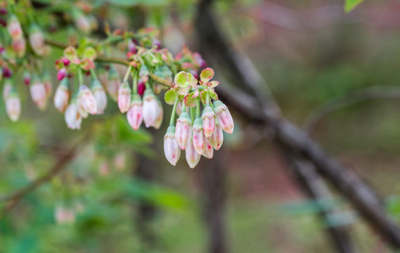
M 349 105 L 354 105 L 365 100 L 371 100 L 375 98 L 395 98 L 400 99 L 400 87 L 399 86 L 372 86 L 358 91 L 353 91 L 344 96 L 334 98 L 328 102 L 322 104 L 316 110 L 312 111 L 307 115 L 303 129 L 311 133 L 314 126 L 321 121 L 322 117 L 335 110 L 340 110 Z

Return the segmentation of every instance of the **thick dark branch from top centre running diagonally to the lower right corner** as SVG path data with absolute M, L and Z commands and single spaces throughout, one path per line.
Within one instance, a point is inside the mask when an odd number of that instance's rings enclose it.
M 201 6 L 204 5 L 204 6 Z M 200 3 L 201 16 L 198 18 L 198 30 L 200 32 L 199 44 L 203 48 L 214 48 L 214 55 L 224 61 L 224 65 L 229 66 L 229 74 L 233 76 L 236 83 L 243 85 L 246 91 L 252 92 L 243 82 L 247 76 L 238 67 L 232 57 L 226 57 L 227 44 L 219 38 L 219 33 L 215 33 L 214 23 L 210 6 L 207 2 Z M 228 50 L 228 53 L 232 53 Z M 233 66 L 233 67 L 231 67 Z M 238 74 L 239 73 L 239 74 Z M 321 176 L 325 176 L 335 188 L 359 211 L 372 228 L 379 231 L 380 235 L 389 242 L 392 247 L 400 248 L 400 228 L 386 214 L 382 207 L 380 198 L 375 192 L 366 185 L 359 176 L 351 169 L 344 167 L 343 164 L 330 157 L 318 143 L 314 142 L 304 131 L 284 119 L 280 115 L 271 114 L 271 110 L 260 110 L 260 103 L 257 96 L 249 96 L 247 93 L 230 87 L 218 86 L 219 97 L 229 102 L 229 105 L 236 108 L 243 117 L 250 122 L 257 122 L 271 129 L 271 139 L 283 150 L 290 150 L 291 153 L 305 161 L 314 164 L 316 171 Z M 264 108 L 262 108 L 264 109 Z M 271 108 L 266 108 L 271 109 Z

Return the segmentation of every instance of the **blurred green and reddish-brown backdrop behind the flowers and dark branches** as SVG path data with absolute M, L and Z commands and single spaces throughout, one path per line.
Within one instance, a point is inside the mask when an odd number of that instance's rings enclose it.
M 113 27 L 160 29 L 173 53 L 183 44 L 200 48 L 195 1 L 92 4 Z M 365 179 L 397 219 L 400 2 L 365 1 L 350 13 L 343 4 L 216 0 L 212 12 L 233 52 L 262 74 L 282 114 Z M 49 36 L 67 35 L 60 29 Z M 60 54 L 53 49 L 49 69 Z M 211 67 L 216 79 L 230 79 Z M 24 88 L 19 122 L 10 122 L 0 103 L 0 200 L 57 166 L 75 145 L 79 151 L 2 217 L 0 252 L 335 252 L 328 226 L 346 229 L 358 252 L 394 252 L 335 192 L 327 201 L 340 208 L 336 222 L 320 219 L 285 157 L 235 110 L 235 131 L 223 148 L 189 169 L 183 156 L 176 167 L 164 159 L 167 124 L 134 131 L 109 100 L 105 115 L 72 131 L 53 105 L 39 112 Z M 164 110 L 169 115 L 171 108 Z M 59 207 L 74 221 L 57 223 Z

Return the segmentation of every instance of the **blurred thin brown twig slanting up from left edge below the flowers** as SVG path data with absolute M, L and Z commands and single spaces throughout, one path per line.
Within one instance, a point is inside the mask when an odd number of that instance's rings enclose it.
M 10 212 L 11 209 L 13 209 L 26 195 L 32 193 L 33 190 L 41 186 L 43 183 L 51 180 L 53 176 L 56 176 L 58 173 L 60 173 L 60 171 L 63 171 L 65 166 L 75 158 L 75 156 L 77 155 L 77 151 L 79 150 L 79 148 L 82 148 L 82 144 L 86 143 L 86 141 L 89 139 L 89 136 L 91 136 L 91 131 L 89 131 L 89 133 L 86 134 L 75 146 L 70 148 L 70 150 L 68 150 L 65 155 L 59 157 L 58 160 L 53 164 L 51 169 L 39 179 L 36 179 L 29 185 L 15 191 L 15 193 L 12 193 L 7 197 L 1 198 L 1 200 L 7 201 L 7 203 L 0 212 L 0 220 L 3 219 L 4 216 L 6 216 L 6 214 L 8 214 L 8 212 Z

